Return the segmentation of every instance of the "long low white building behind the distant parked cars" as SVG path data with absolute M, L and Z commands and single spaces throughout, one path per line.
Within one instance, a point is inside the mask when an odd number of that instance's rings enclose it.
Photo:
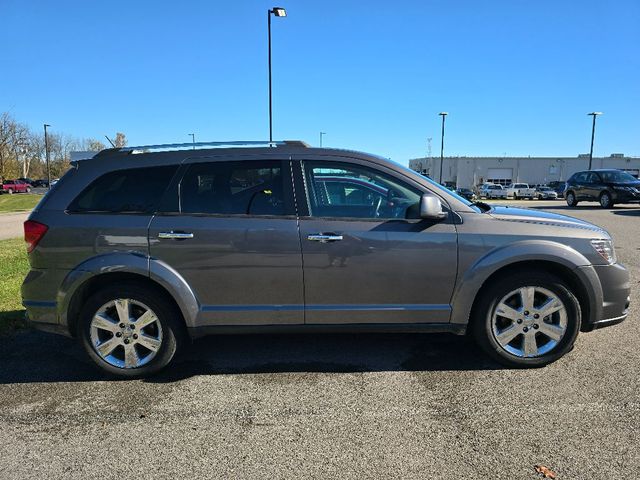
M 451 182 L 465 188 L 484 182 L 534 185 L 564 181 L 588 167 L 589 154 L 577 157 L 444 157 L 442 183 Z M 409 168 L 440 181 L 440 157 L 409 160 Z M 638 177 L 640 157 L 627 157 L 622 153 L 594 157 L 591 168 L 617 168 Z

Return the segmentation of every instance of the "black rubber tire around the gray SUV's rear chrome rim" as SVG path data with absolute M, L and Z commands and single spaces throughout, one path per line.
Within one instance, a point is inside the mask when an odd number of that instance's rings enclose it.
M 110 301 L 127 298 L 148 306 L 160 323 L 162 342 L 155 356 L 146 364 L 136 368 L 114 366 L 103 359 L 94 349 L 91 340 L 91 321 L 98 310 Z M 85 302 L 78 322 L 78 340 L 87 355 L 104 372 L 122 378 L 142 378 L 158 373 L 176 356 L 186 340 L 182 315 L 166 294 L 159 289 L 136 283 L 123 283 L 106 287 L 93 294 Z

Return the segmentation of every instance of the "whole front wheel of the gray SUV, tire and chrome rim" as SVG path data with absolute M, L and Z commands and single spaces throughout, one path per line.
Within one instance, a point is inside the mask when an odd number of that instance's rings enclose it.
M 581 323 L 578 300 L 559 278 L 542 272 L 499 280 L 474 307 L 480 347 L 512 367 L 542 367 L 573 347 Z

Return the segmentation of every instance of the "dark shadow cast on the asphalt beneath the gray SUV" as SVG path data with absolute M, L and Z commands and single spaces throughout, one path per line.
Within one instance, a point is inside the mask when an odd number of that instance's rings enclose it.
M 224 335 L 196 340 L 147 382 L 196 375 L 496 370 L 468 338 L 450 334 Z M 29 331 L 0 338 L 0 385 L 110 380 L 72 339 Z

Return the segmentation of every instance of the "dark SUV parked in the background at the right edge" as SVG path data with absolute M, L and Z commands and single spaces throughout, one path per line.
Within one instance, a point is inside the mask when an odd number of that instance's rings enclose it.
M 600 202 L 602 208 L 616 203 L 640 203 L 640 180 L 622 170 L 587 170 L 574 173 L 565 187 L 567 205 Z

